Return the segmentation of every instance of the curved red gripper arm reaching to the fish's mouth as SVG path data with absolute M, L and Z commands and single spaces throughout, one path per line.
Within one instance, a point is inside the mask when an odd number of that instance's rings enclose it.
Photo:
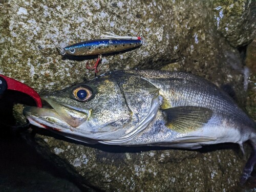
M 19 92 L 22 92 L 22 93 L 25 93 L 25 94 L 29 95 L 30 97 L 32 97 L 35 100 L 36 105 L 39 108 L 42 107 L 42 102 L 41 102 L 40 96 L 31 87 L 27 86 L 26 84 L 24 84 L 22 82 L 19 82 L 17 80 L 14 80 L 10 77 L 6 77 L 6 76 L 1 75 L 1 74 L 0 74 L 0 77 L 3 77 L 6 80 L 7 89 L 14 90 L 14 91 L 19 91 Z

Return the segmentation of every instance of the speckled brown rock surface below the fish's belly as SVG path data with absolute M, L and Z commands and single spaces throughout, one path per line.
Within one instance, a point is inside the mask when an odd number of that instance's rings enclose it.
M 250 151 L 246 145 L 243 157 L 236 145 L 217 145 L 207 153 L 83 145 L 42 135 L 31 143 L 41 154 L 57 155 L 45 158 L 72 177 L 82 176 L 81 183 L 96 191 L 241 191 L 239 178 Z

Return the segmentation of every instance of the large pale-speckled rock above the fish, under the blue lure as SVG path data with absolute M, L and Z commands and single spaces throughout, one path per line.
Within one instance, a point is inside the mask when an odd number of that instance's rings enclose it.
M 219 25 L 228 25 L 229 18 L 240 20 L 244 14 L 250 15 L 252 3 L 247 6 L 246 2 L 239 1 L 228 9 L 231 16 L 225 14 Z M 86 70 L 87 60 L 63 59 L 56 48 L 112 31 L 143 36 L 145 43 L 139 49 L 103 56 L 100 73 L 159 69 L 178 62 L 183 71 L 218 85 L 229 82 L 240 89 L 243 65 L 239 52 L 216 27 L 216 11 L 221 11 L 216 7 L 220 5 L 220 1 L 4 1 L 0 3 L 0 73 L 27 83 L 38 92 L 90 79 L 94 73 Z M 247 7 L 237 15 L 240 5 Z M 224 13 L 225 6 L 221 7 Z M 245 34 L 243 24 L 250 23 L 255 29 L 250 17 L 243 18 L 239 25 L 229 27 L 230 31 L 236 28 L 232 36 L 236 35 L 237 41 L 242 39 L 241 31 Z M 243 45 L 251 39 L 249 31 Z

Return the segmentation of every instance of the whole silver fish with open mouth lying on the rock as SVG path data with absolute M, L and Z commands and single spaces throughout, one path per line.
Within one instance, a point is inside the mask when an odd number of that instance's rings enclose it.
M 249 141 L 256 160 L 256 123 L 215 84 L 185 72 L 113 71 L 41 96 L 49 108 L 27 106 L 29 122 L 86 143 L 169 146 L 195 150 L 203 145 Z

